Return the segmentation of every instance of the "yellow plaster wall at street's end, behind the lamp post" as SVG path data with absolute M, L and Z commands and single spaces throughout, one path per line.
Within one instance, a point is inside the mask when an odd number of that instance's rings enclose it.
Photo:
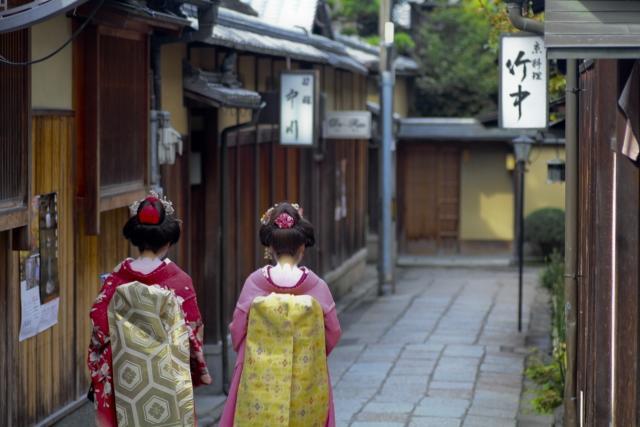
M 460 171 L 460 240 L 510 241 L 514 238 L 513 171 L 510 150 L 503 144 L 483 143 L 462 152 Z M 525 178 L 525 216 L 545 208 L 564 209 L 564 184 L 547 182 L 547 162 L 564 159 L 564 149 L 531 150 Z

